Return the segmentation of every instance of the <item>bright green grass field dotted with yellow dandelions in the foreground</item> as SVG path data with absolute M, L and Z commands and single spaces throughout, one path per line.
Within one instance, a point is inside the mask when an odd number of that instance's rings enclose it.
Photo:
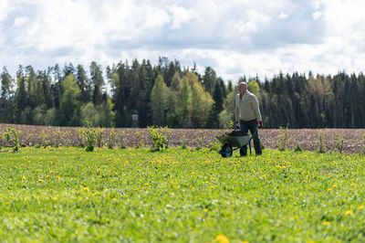
M 0 241 L 365 240 L 365 158 L 208 149 L 0 153 Z

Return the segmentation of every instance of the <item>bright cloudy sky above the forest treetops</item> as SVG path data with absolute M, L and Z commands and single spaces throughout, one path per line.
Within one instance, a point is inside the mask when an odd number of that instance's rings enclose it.
M 0 0 L 0 67 L 177 59 L 223 79 L 359 73 L 362 0 Z M 362 65 L 361 65 L 362 64 Z

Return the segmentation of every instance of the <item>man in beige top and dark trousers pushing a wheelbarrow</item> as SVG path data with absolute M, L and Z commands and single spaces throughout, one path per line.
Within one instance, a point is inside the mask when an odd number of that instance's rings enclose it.
M 260 108 L 255 94 L 247 90 L 247 84 L 241 82 L 238 85 L 239 93 L 235 96 L 235 124 L 240 122 L 240 131 L 247 135 L 248 130 L 254 134 L 254 146 L 256 155 L 261 155 L 261 142 L 256 130 L 257 122 L 263 128 Z M 247 145 L 240 149 L 241 156 L 247 155 Z

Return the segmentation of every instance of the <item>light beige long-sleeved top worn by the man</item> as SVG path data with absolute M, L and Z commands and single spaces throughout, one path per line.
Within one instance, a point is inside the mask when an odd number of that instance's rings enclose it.
M 243 121 L 257 119 L 257 122 L 262 121 L 257 98 L 255 94 L 248 90 L 245 91 L 242 100 L 240 99 L 240 94 L 235 95 L 235 121 L 238 121 L 238 119 Z

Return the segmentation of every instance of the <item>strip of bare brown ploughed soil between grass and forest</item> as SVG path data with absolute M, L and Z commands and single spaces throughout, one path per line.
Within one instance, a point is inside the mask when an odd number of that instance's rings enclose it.
M 42 138 L 39 137 L 42 131 L 48 134 L 50 145 L 57 142 L 54 132 L 62 132 L 62 140 L 60 143 L 78 146 L 78 130 L 75 127 L 52 127 L 52 126 L 32 126 L 32 125 L 14 125 L 0 124 L 0 132 L 4 132 L 6 127 L 15 127 L 20 131 L 20 143 L 23 146 L 34 146 L 42 143 Z M 344 140 L 343 151 L 345 153 L 360 153 L 365 148 L 363 134 L 365 129 L 292 129 L 289 130 L 290 142 L 288 149 L 293 150 L 298 144 L 303 150 L 315 151 L 318 149 L 318 132 L 323 132 L 325 135 L 326 147 L 329 151 L 335 151 L 334 143 L 340 134 Z M 118 143 L 128 147 L 133 147 L 142 141 L 146 146 L 151 146 L 150 132 L 148 129 L 140 128 L 117 128 L 117 134 L 124 132 L 123 141 Z M 136 132 L 137 133 L 136 135 Z M 207 130 L 207 129 L 169 129 L 167 134 L 169 146 L 177 147 L 185 143 L 189 147 L 209 147 L 216 142 L 216 136 L 224 135 L 227 130 Z M 262 129 L 259 130 L 259 136 L 262 143 L 268 149 L 277 149 L 276 141 L 280 131 L 277 129 Z M 104 141 L 108 140 L 110 129 L 105 129 Z M 138 136 L 140 134 L 140 136 Z M 44 140 L 44 139 L 43 139 Z M 4 143 L 3 143 L 4 144 Z M 8 145 L 8 144 L 7 144 Z M 3 145 L 4 146 L 4 145 Z

